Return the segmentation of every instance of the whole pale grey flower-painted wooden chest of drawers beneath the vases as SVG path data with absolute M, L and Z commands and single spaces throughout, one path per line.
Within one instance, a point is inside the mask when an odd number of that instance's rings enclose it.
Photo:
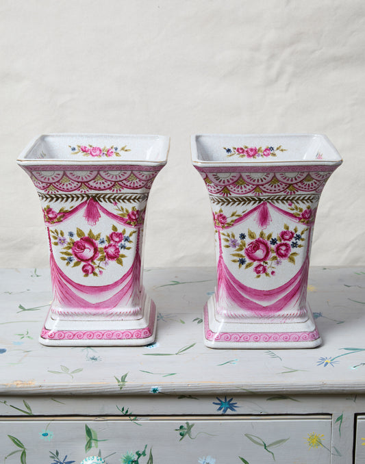
M 154 344 L 38 344 L 49 270 L 0 275 L 0 462 L 365 463 L 365 268 L 312 268 L 312 350 L 212 350 L 212 268 L 144 274 Z

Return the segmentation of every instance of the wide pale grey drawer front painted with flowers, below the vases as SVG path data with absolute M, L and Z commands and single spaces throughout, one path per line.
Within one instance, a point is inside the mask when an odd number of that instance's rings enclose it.
M 6 464 L 329 464 L 331 417 L 2 420 Z

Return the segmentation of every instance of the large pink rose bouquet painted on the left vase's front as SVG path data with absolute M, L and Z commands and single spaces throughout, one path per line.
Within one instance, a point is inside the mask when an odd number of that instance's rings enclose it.
M 62 255 L 62 261 L 66 261 L 66 266 L 73 268 L 81 266 L 84 277 L 88 277 L 89 275 L 101 276 L 110 262 L 123 266 L 123 258 L 127 255 L 124 255 L 122 251 L 131 249 L 129 246 L 132 243 L 131 236 L 136 231 L 131 231 L 127 235 L 125 229 L 118 231 L 113 224 L 112 232 L 105 237 L 101 237 L 101 233 L 93 233 L 91 229 L 86 235 L 78 227 L 76 233 L 69 231 L 67 236 L 64 231 L 58 231 L 58 229 L 50 233 L 53 245 L 62 246 L 60 255 Z

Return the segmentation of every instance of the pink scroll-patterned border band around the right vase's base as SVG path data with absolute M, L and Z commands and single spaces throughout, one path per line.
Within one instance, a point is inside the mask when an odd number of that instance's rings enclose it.
M 210 341 L 242 342 L 282 342 L 282 341 L 313 341 L 319 338 L 318 330 L 312 332 L 213 332 L 209 328 L 207 304 L 204 307 L 204 333 Z

